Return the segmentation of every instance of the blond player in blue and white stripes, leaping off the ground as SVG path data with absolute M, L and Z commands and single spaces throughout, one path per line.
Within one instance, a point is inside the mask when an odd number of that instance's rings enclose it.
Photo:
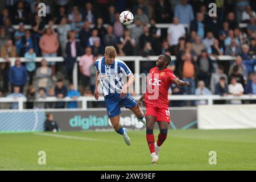
M 98 85 L 101 84 L 101 89 L 105 99 L 106 110 L 114 130 L 121 134 L 125 143 L 130 145 L 130 138 L 127 135 L 127 129 L 120 124 L 120 104 L 133 111 L 138 121 L 146 125 L 146 119 L 141 109 L 137 109 L 137 102 L 133 96 L 127 92 L 130 85 L 134 83 L 134 75 L 127 65 L 118 59 L 117 51 L 113 46 L 105 48 L 105 55 L 102 59 L 95 61 L 96 72 L 96 89 L 94 97 L 98 100 Z M 126 84 L 123 84 L 122 76 L 129 78 Z

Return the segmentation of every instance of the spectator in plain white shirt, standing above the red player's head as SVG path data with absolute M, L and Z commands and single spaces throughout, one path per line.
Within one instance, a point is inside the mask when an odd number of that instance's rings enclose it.
M 176 46 L 179 43 L 179 38 L 185 37 L 185 28 L 179 23 L 179 19 L 174 17 L 173 23 L 170 24 L 167 30 L 167 40 L 170 46 Z

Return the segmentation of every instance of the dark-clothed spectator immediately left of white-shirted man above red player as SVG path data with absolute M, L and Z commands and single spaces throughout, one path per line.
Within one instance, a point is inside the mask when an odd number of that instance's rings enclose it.
M 155 19 L 150 19 L 150 36 L 154 40 L 154 50 L 157 55 L 161 53 L 161 30 L 160 28 L 156 28 L 155 26 Z

